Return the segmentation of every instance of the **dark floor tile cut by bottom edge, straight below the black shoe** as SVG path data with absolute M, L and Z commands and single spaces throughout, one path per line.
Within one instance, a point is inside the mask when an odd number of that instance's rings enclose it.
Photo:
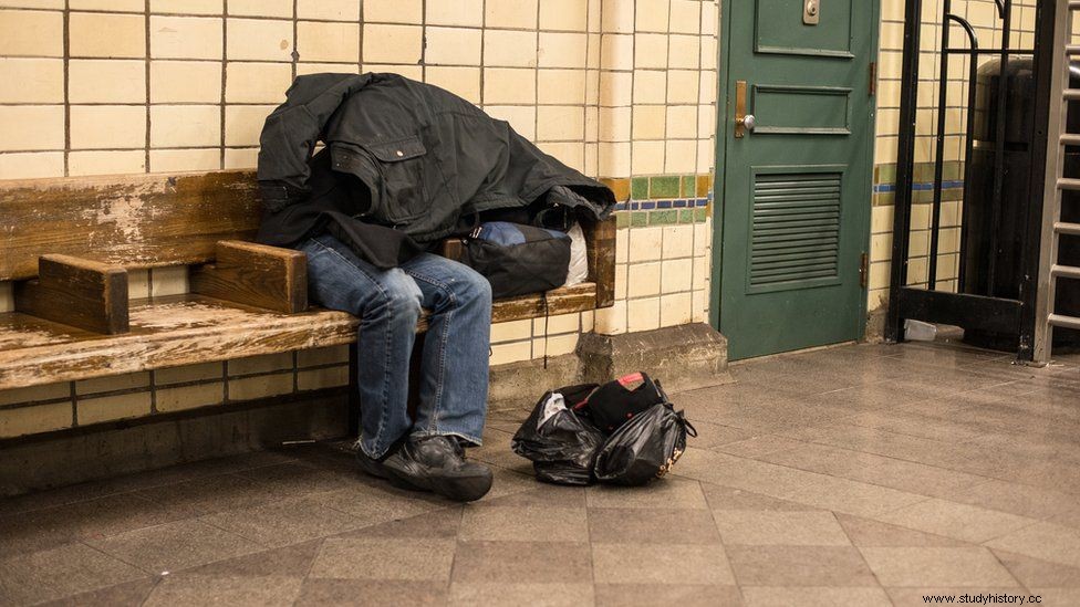
M 334 579 L 311 577 L 297 597 L 298 607 L 328 605 L 384 607 L 386 605 L 446 605 L 446 585 L 386 579 Z

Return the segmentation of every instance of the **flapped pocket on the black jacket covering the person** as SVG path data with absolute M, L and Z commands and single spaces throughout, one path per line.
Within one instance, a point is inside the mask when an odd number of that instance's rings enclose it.
M 404 223 L 427 210 L 425 187 L 427 149 L 418 136 L 361 144 L 380 174 L 378 202 L 373 208 L 375 219 L 388 223 Z

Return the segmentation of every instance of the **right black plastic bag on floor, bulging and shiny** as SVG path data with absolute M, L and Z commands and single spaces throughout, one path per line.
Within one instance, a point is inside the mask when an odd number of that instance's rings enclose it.
M 686 451 L 686 435 L 697 431 L 682 411 L 666 401 L 653 405 L 608 438 L 596 457 L 596 480 L 642 485 L 667 474 Z

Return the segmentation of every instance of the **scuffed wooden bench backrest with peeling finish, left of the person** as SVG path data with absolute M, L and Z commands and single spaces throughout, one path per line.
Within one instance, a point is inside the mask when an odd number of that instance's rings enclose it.
M 0 181 L 0 280 L 70 254 L 125 268 L 205 263 L 219 240 L 250 240 L 261 203 L 252 171 Z

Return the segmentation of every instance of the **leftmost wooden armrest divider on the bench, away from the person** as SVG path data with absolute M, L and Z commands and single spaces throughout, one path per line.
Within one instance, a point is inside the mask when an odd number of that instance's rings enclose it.
M 69 255 L 44 255 L 38 280 L 15 283 L 15 310 L 97 333 L 127 331 L 127 271 Z

